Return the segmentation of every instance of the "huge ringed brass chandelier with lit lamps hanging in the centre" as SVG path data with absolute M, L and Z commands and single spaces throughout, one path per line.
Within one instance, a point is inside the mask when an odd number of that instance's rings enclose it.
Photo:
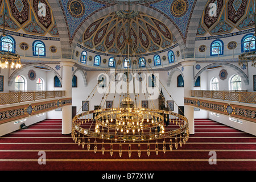
M 154 143 L 154 151 L 156 152 L 156 155 L 158 155 L 160 151 L 163 151 L 164 153 L 167 151 L 172 151 L 173 147 L 177 149 L 178 146 L 181 147 L 188 141 L 188 120 L 183 115 L 171 111 L 167 102 L 164 100 L 163 94 L 160 94 L 160 97 L 163 98 L 165 104 L 167 105 L 168 109 L 166 110 L 156 109 L 154 102 L 150 100 L 148 100 L 148 102 L 151 102 L 153 109 L 148 109 L 149 107 L 139 107 L 137 102 L 140 100 L 140 96 L 135 92 L 134 101 L 131 100 L 129 93 L 129 82 L 131 81 L 134 84 L 135 78 L 130 78 L 129 73 L 142 71 L 141 67 L 134 68 L 135 65 L 138 65 L 135 63 L 138 63 L 139 58 L 142 56 L 138 51 L 135 52 L 137 45 L 134 44 L 133 39 L 131 39 L 130 36 L 130 1 L 128 12 L 129 18 L 127 19 L 127 34 L 129 36 L 126 39 L 126 42 L 123 44 L 121 51 L 118 53 L 119 56 L 117 57 L 119 57 L 119 60 L 117 61 L 118 64 L 114 71 L 115 74 L 117 72 L 127 73 L 126 78 L 122 79 L 122 81 L 126 81 L 127 83 L 127 92 L 123 95 L 119 94 L 118 107 L 114 107 L 113 104 L 110 108 L 88 110 L 73 117 L 71 135 L 72 139 L 79 146 L 81 145 L 82 148 L 85 148 L 88 151 L 94 151 L 95 153 L 100 151 L 102 154 L 105 154 L 106 151 L 109 151 L 110 156 L 112 156 L 113 152 L 117 151 L 119 157 L 121 157 L 123 151 L 127 151 L 129 157 L 131 157 L 131 152 L 137 150 L 139 157 L 141 157 L 141 153 L 143 151 L 146 151 L 147 155 L 150 156 L 150 152 L 152 151 L 150 143 Z M 134 60 L 127 63 L 127 68 L 122 69 L 121 67 L 125 64 L 123 63 L 125 59 L 121 59 L 121 57 L 126 57 L 128 60 L 132 58 Z M 147 60 L 144 61 L 146 65 L 145 70 L 148 73 L 154 73 Z M 109 70 L 110 68 L 105 73 L 108 73 Z M 145 79 L 143 81 L 145 81 Z M 152 79 L 152 81 L 155 84 L 156 80 Z M 159 82 L 162 84 L 160 80 Z M 95 96 L 95 93 L 97 92 L 97 85 L 89 94 L 86 101 L 91 100 Z M 157 84 L 155 85 L 157 86 L 156 89 L 160 91 L 159 86 Z M 163 85 L 162 87 L 164 88 Z M 167 89 L 164 89 L 168 93 Z M 114 100 L 116 99 L 116 94 L 117 93 L 115 92 Z M 168 95 L 171 97 L 170 93 L 168 93 Z M 104 93 L 100 106 L 103 107 L 105 105 L 108 96 L 108 93 Z M 146 99 L 145 93 L 144 97 Z

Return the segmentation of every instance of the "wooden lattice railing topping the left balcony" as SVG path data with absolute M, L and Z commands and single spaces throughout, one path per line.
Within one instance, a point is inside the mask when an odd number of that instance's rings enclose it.
M 56 97 L 64 97 L 65 91 L 57 90 L 57 91 L 13 91 L 10 90 L 9 93 L 1 93 L 0 94 L 0 105 L 5 104 L 14 104 L 19 102 L 26 101 L 36 101 L 47 98 L 56 98 Z

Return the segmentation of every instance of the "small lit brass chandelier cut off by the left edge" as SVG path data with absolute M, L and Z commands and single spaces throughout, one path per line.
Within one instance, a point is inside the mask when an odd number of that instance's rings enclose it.
M 4 1 L 4 12 L 3 12 L 3 34 L 2 34 L 2 40 L 5 39 L 5 6 L 6 2 Z M 8 68 L 10 64 L 10 68 L 13 69 L 15 68 L 20 68 L 21 67 L 21 62 L 20 62 L 20 56 L 18 53 L 13 53 L 11 50 L 13 49 L 13 44 L 8 43 L 8 42 L 1 42 L 2 46 L 2 51 L 0 51 L 0 67 L 3 68 Z M 15 50 L 16 51 L 16 50 Z

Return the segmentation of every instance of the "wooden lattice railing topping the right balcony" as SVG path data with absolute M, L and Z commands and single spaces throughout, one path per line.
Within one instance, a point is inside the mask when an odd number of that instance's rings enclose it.
M 191 90 L 191 96 L 256 104 L 256 92 L 247 90 Z

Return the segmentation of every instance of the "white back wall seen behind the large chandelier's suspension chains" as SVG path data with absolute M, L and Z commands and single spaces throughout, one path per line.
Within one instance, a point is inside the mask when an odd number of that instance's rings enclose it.
M 84 83 L 82 82 L 82 77 L 80 75 L 80 73 L 76 73 L 77 79 L 78 79 L 78 86 L 77 88 L 72 88 L 72 106 L 77 106 L 77 112 L 81 113 L 81 106 L 82 106 L 82 101 L 85 101 L 89 94 L 93 91 L 93 88 L 96 86 L 97 84 L 97 77 L 98 75 L 100 75 L 102 72 L 86 72 L 87 73 L 87 86 L 84 86 Z M 159 88 L 163 90 L 163 94 L 164 97 L 166 98 L 166 100 L 174 100 L 176 102 L 177 105 L 179 106 L 183 106 L 183 88 L 177 88 L 176 86 L 167 86 L 167 72 L 155 72 L 155 73 L 159 73 L 159 78 L 160 81 L 162 82 L 162 84 L 159 83 Z M 175 77 L 175 76 L 174 76 Z M 177 80 L 176 78 L 173 78 L 175 81 L 175 85 Z M 115 82 L 115 86 L 117 86 L 117 81 Z M 143 82 L 144 83 L 144 82 Z M 164 89 L 166 88 L 166 90 Z M 95 92 L 95 93 L 94 93 Z M 168 93 L 169 94 L 168 94 Z M 97 92 L 97 88 L 93 91 L 94 96 L 91 100 L 91 97 L 89 98 L 89 109 L 93 110 L 94 109 L 94 105 L 101 105 L 104 103 L 104 101 L 102 101 L 102 96 L 104 96 L 104 94 L 100 94 Z M 158 92 L 159 93 L 159 92 Z M 172 98 L 169 96 L 171 94 Z M 115 98 L 114 98 L 115 95 Z M 121 99 L 119 101 L 121 95 Z M 114 101 L 114 107 L 118 107 L 119 102 L 121 102 L 122 98 L 123 98 L 123 93 L 121 94 L 114 94 L 114 93 L 110 93 L 107 100 L 109 101 Z M 92 95 L 91 95 L 92 96 Z M 158 95 L 159 96 L 159 95 Z M 158 96 L 156 98 L 158 98 Z M 130 94 L 130 97 L 133 99 L 133 101 L 135 101 L 134 99 L 134 94 Z M 145 98 L 146 97 L 146 98 Z M 142 100 L 148 100 L 147 99 L 148 95 L 142 93 L 142 90 L 140 88 L 140 93 L 139 96 L 137 96 L 137 106 L 141 106 L 141 101 Z M 101 103 L 102 101 L 102 103 Z M 151 104 L 154 103 L 153 104 Z M 154 109 L 158 109 L 158 99 L 156 100 L 152 100 L 152 101 L 148 101 L 148 107 Z M 103 108 L 106 108 L 106 104 L 103 105 Z M 175 105 L 175 111 L 177 111 L 177 106 Z

